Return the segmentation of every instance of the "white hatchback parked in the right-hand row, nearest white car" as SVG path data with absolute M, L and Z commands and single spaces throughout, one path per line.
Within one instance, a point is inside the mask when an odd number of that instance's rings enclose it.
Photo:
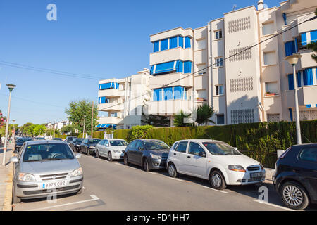
M 176 141 L 166 161 L 168 174 L 180 174 L 208 179 L 218 190 L 227 185 L 261 183 L 266 171 L 260 162 L 243 155 L 222 141 L 190 139 Z

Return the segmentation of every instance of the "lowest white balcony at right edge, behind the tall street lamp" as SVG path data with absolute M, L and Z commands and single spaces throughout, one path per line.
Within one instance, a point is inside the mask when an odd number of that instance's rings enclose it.
M 297 91 L 299 106 L 316 105 L 317 104 L 316 93 L 317 93 L 317 85 L 300 87 Z M 288 108 L 295 107 L 294 94 L 295 94 L 294 91 L 286 91 L 286 99 L 287 99 Z

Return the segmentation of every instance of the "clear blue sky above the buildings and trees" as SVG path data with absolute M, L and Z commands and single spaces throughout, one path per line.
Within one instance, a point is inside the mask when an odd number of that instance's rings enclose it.
M 278 0 L 265 0 L 268 7 Z M 57 21 L 48 21 L 46 6 L 57 6 Z M 149 35 L 174 27 L 202 27 L 232 6 L 257 0 L 106 1 L 1 0 L 0 61 L 108 79 L 149 68 Z M 0 62 L 1 63 L 1 62 Z M 11 119 L 45 123 L 65 120 L 69 101 L 98 101 L 98 79 L 80 79 L 0 64 L 0 110 Z

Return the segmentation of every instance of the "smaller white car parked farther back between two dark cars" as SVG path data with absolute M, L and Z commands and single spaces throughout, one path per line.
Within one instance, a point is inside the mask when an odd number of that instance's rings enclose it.
M 96 158 L 106 157 L 109 161 L 123 159 L 128 143 L 123 139 L 104 139 L 96 145 Z

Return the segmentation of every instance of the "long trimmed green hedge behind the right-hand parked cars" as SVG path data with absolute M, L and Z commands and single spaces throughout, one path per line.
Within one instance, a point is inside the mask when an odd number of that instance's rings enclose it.
M 302 121 L 302 143 L 317 142 L 317 120 Z M 116 130 L 114 137 L 132 141 L 130 130 Z M 259 122 L 226 126 L 165 127 L 147 131 L 147 139 L 172 145 L 180 139 L 216 139 L 237 147 L 245 155 L 273 168 L 276 151 L 296 144 L 295 122 Z

